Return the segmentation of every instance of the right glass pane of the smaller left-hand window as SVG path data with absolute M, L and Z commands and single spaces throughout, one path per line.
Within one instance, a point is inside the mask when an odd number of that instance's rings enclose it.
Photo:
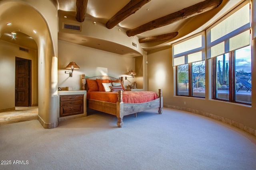
M 192 63 L 192 96 L 205 97 L 205 62 Z

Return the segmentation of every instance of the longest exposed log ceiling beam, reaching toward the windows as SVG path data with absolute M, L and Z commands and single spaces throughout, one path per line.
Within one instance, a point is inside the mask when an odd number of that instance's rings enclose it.
M 205 0 L 203 2 L 199 2 L 198 4 L 184 8 L 180 11 L 169 14 L 167 16 L 164 16 L 164 17 L 158 18 L 156 20 L 150 21 L 148 23 L 145 23 L 144 25 L 141 25 L 134 29 L 130 29 L 130 30 L 126 31 L 126 34 L 129 37 L 131 37 L 131 36 L 143 33 L 145 31 L 149 31 L 152 29 L 156 29 L 158 27 L 169 25 L 176 21 L 190 18 L 192 16 L 196 16 L 198 14 L 202 14 L 206 11 L 217 8 L 221 3 L 222 3 L 222 0 Z

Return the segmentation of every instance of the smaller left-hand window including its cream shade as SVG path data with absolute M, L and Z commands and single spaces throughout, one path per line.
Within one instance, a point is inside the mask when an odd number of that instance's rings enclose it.
M 201 32 L 173 45 L 176 66 L 176 95 L 205 97 L 205 33 Z

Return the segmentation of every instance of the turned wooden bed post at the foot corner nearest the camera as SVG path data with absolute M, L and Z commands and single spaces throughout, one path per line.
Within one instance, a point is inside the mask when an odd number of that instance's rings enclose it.
M 122 100 L 123 93 L 122 90 L 118 90 L 117 93 L 117 103 L 116 103 L 116 117 L 117 122 L 116 125 L 118 127 L 122 127 L 123 123 L 123 117 L 124 117 L 124 102 Z

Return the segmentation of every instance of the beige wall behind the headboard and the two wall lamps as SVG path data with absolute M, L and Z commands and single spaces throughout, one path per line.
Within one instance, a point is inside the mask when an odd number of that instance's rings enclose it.
M 86 77 L 108 75 L 116 78 L 129 76 L 126 73 L 135 67 L 135 59 L 106 51 L 92 49 L 66 41 L 58 41 L 58 86 L 81 89 L 81 74 Z M 65 74 L 65 67 L 71 61 L 80 67 L 74 70 L 73 77 Z M 125 79 L 125 78 L 124 78 Z M 133 78 L 131 78 L 133 79 Z M 128 88 L 129 80 L 124 80 L 124 86 Z M 133 80 L 134 81 L 134 80 Z

